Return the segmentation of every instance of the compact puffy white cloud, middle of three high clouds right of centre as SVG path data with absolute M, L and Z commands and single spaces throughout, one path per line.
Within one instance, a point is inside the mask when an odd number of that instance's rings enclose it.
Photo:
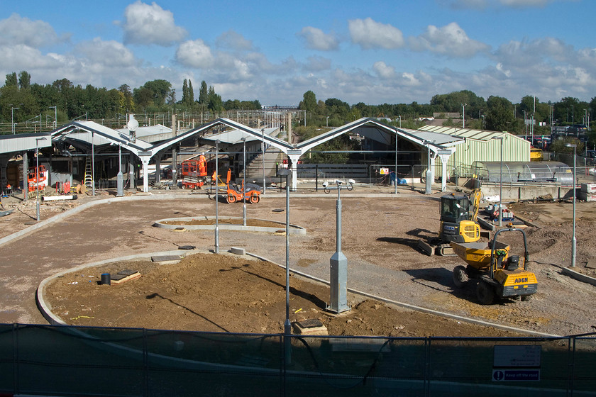
M 393 50 L 404 46 L 402 30 L 390 24 L 373 21 L 372 18 L 348 21 L 348 29 L 352 42 L 360 45 L 364 50 L 372 48 Z

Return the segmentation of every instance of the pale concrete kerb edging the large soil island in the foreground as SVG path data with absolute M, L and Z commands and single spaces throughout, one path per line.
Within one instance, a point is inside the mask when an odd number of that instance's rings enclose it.
M 67 323 L 65 323 L 60 317 L 58 317 L 57 315 L 55 315 L 50 306 L 48 305 L 48 303 L 45 302 L 45 288 L 46 286 L 48 286 L 48 284 L 50 283 L 50 281 L 53 281 L 54 279 L 56 279 L 57 277 L 60 276 L 64 276 L 65 274 L 69 274 L 72 272 L 77 272 L 79 270 L 82 269 L 87 269 L 89 267 L 96 267 L 96 266 L 101 266 L 102 264 L 109 264 L 112 262 L 123 262 L 123 261 L 133 261 L 133 260 L 141 260 L 141 259 L 148 259 L 150 257 L 154 257 L 154 256 L 163 256 L 163 255 L 180 255 L 181 259 L 183 257 L 186 257 L 188 255 L 193 255 L 193 254 L 197 254 L 197 253 L 213 253 L 210 250 L 188 250 L 188 251 L 184 251 L 181 252 L 180 250 L 174 250 L 174 251 L 162 251 L 162 252 L 149 252 L 149 253 L 145 253 L 145 254 L 136 254 L 136 255 L 128 255 L 126 257 L 117 257 L 117 258 L 111 258 L 111 259 L 104 259 L 98 262 L 92 262 L 92 263 L 87 263 L 87 264 L 82 264 L 79 265 L 77 267 L 73 267 L 71 269 L 66 269 L 63 270 L 62 272 L 58 272 L 56 274 L 54 274 L 53 276 L 49 276 L 45 279 L 43 279 L 43 281 L 41 281 L 40 285 L 38 286 L 38 289 L 35 293 L 35 299 L 38 303 L 38 307 L 39 310 L 41 312 L 41 314 L 43 315 L 43 317 L 48 320 L 48 322 L 51 325 L 67 325 Z M 223 255 L 235 255 L 233 253 L 228 253 L 228 252 L 222 252 Z M 241 255 L 242 256 L 242 255 Z M 277 265 L 278 267 L 281 267 L 283 269 L 285 269 L 285 265 L 282 264 L 278 264 L 276 262 L 271 261 L 270 259 L 267 259 L 265 257 L 261 257 L 260 255 L 255 255 L 252 254 L 250 252 L 246 252 L 245 256 L 247 257 L 253 257 L 259 260 L 262 260 L 264 262 L 270 262 L 272 264 Z M 165 264 L 164 266 L 167 266 L 167 264 Z M 305 279 L 310 279 L 312 281 L 316 281 L 322 284 L 326 284 L 329 286 L 329 281 L 324 280 L 324 279 L 319 279 L 318 277 L 315 276 L 311 276 L 310 274 L 306 274 L 303 272 L 299 272 L 297 270 L 294 270 L 292 268 L 289 269 L 289 272 L 292 272 L 292 274 L 296 274 L 298 276 L 304 277 Z M 392 305 L 396 305 L 396 306 L 401 306 L 403 308 L 407 308 L 409 310 L 413 310 L 413 311 L 419 311 L 422 313 L 428 313 L 428 314 L 432 314 L 432 315 L 438 315 L 441 317 L 445 317 L 445 318 L 451 318 L 453 320 L 460 320 L 460 321 L 465 321 L 466 323 L 472 323 L 472 324 L 476 324 L 476 325 L 484 325 L 487 327 L 492 327 L 492 328 L 499 328 L 502 330 L 509 330 L 509 331 L 514 331 L 514 332 L 519 332 L 519 333 L 526 333 L 529 335 L 536 335 L 536 336 L 541 336 L 541 337 L 559 337 L 560 335 L 551 335 L 551 334 L 546 334 L 543 332 L 534 332 L 534 331 L 529 331 L 529 330 L 522 330 L 521 328 L 514 328 L 514 327 L 509 327 L 507 325 L 500 325 L 500 324 L 495 324 L 495 323 L 489 323 L 487 321 L 482 321 L 482 320 L 476 320 L 474 318 L 467 318 L 467 317 L 463 317 L 461 315 L 455 315 L 455 314 L 451 314 L 451 313 L 444 313 L 441 311 L 434 311 L 432 309 L 429 308 L 423 308 L 420 306 L 414 306 L 414 305 L 410 305 L 409 303 L 404 303 L 404 302 L 399 302 L 399 301 L 393 301 L 392 299 L 389 298 L 383 298 L 382 296 L 376 296 L 373 295 L 372 293 L 367 293 L 365 291 L 359 291 L 357 289 L 350 289 L 348 288 L 348 291 L 351 293 L 355 293 L 357 295 L 360 296 L 366 296 L 368 298 L 373 298 L 376 299 L 377 301 L 382 301 L 385 303 L 390 303 Z

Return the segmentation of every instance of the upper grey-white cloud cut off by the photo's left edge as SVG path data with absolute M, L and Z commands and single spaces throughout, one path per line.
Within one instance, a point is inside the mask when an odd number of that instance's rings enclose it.
M 48 22 L 31 21 L 17 13 L 0 21 L 0 45 L 24 44 L 38 48 L 65 40 L 67 37 L 58 38 L 54 28 Z

